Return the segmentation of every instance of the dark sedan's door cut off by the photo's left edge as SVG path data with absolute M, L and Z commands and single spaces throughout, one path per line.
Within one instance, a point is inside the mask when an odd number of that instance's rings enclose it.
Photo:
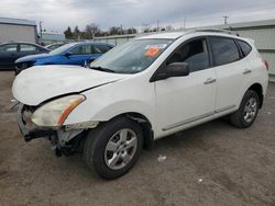
M 4 44 L 0 46 L 0 68 L 13 69 L 14 61 L 18 59 L 19 46 L 18 44 Z

